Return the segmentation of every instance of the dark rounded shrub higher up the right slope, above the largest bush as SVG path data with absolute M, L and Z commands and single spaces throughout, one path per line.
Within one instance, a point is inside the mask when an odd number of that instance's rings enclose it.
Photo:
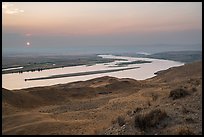
M 169 94 L 169 97 L 172 97 L 173 100 L 175 100 L 175 99 L 185 97 L 186 95 L 189 95 L 189 93 L 186 90 L 182 88 L 178 88 L 178 89 L 172 90 Z

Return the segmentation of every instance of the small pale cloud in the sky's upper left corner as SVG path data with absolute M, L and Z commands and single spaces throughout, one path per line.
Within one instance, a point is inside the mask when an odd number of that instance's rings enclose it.
M 10 14 L 10 15 L 16 15 L 16 14 L 24 12 L 24 10 L 16 8 L 11 3 L 3 3 L 2 4 L 2 11 L 3 11 L 3 13 Z

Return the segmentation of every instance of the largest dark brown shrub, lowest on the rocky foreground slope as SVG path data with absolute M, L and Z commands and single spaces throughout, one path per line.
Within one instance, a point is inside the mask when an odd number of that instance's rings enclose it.
M 146 130 L 147 128 L 158 125 L 166 117 L 166 112 L 160 109 L 152 110 L 146 114 L 139 114 L 135 116 L 135 127 Z

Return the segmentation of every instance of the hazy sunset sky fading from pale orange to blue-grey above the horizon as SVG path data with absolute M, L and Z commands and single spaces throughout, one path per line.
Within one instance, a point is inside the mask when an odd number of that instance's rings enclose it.
M 202 50 L 201 2 L 2 2 L 2 52 Z

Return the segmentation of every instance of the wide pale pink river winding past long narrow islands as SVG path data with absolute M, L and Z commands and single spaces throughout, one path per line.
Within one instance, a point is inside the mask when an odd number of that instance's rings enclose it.
M 151 58 L 136 58 L 136 57 L 127 57 L 127 56 L 114 56 L 114 55 L 99 55 L 103 58 L 112 58 L 112 59 L 126 59 L 127 61 L 114 61 L 111 63 L 100 63 L 92 66 L 72 66 L 64 68 L 55 68 L 47 69 L 43 71 L 35 72 L 23 72 L 23 73 L 10 73 L 2 74 L 2 87 L 13 90 L 13 89 L 23 89 L 30 87 L 40 87 L 40 86 L 50 86 L 56 84 L 64 84 L 75 81 L 84 81 L 102 76 L 112 76 L 117 78 L 132 78 L 136 80 L 144 80 L 155 76 L 155 72 L 160 70 L 166 70 L 170 67 L 181 66 L 184 63 L 170 61 L 170 60 L 161 60 L 161 59 L 151 59 Z M 117 63 L 121 62 L 132 62 L 137 60 L 152 61 L 151 63 L 142 63 L 142 64 L 130 64 L 127 66 L 117 66 Z M 113 70 L 121 68 L 130 68 L 130 67 L 139 67 L 135 69 L 128 69 L 123 71 L 108 72 L 102 74 L 91 74 L 85 76 L 73 76 L 73 77 L 63 77 L 55 79 L 42 79 L 42 80 L 31 80 L 25 81 L 25 79 L 39 78 L 39 77 L 48 77 L 51 75 L 59 74 L 71 74 L 78 72 L 89 72 L 89 71 L 99 71 L 99 70 Z

